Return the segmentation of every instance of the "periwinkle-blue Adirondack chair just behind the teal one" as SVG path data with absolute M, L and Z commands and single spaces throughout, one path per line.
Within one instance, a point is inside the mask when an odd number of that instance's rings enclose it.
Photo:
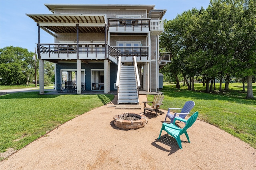
M 186 115 L 189 114 L 189 112 L 191 111 L 191 109 L 192 109 L 194 106 L 195 106 L 195 102 L 193 102 L 193 101 L 187 101 L 187 102 L 184 104 L 184 106 L 183 106 L 182 109 L 181 109 L 181 108 L 168 108 L 168 111 L 167 111 L 167 114 L 166 114 L 166 116 L 165 116 L 164 121 L 166 121 L 166 117 L 168 117 L 168 118 L 171 120 L 170 123 L 172 123 L 172 122 L 175 123 L 175 121 L 174 121 L 174 118 L 175 118 L 175 117 L 180 117 L 180 118 L 182 118 L 182 119 L 185 119 Z M 173 115 L 173 114 L 170 114 L 170 110 L 171 110 L 171 109 L 172 109 L 172 110 L 174 110 L 174 109 L 180 109 L 181 111 L 180 111 L 180 113 L 174 113 L 174 115 Z M 186 122 L 184 122 L 184 123 L 186 124 Z

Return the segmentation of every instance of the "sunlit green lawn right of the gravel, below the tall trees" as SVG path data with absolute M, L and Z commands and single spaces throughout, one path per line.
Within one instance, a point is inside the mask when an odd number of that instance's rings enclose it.
M 190 115 L 198 111 L 199 119 L 219 127 L 256 149 L 256 100 L 245 99 L 246 92 L 241 92 L 242 84 L 230 84 L 230 90 L 214 94 L 201 92 L 205 90 L 202 84 L 195 84 L 195 92 L 186 89 L 187 87 L 181 86 L 178 90 L 174 84 L 164 84 L 162 92 L 165 98 L 160 108 L 182 108 L 186 101 L 193 100 L 196 106 Z M 253 84 L 253 91 L 255 94 L 256 83 Z M 148 95 L 148 101 L 152 101 L 153 97 L 154 95 Z

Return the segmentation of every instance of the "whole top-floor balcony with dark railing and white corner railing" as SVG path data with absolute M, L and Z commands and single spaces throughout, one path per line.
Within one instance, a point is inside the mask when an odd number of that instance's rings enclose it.
M 162 20 L 108 18 L 108 31 L 114 33 L 149 33 L 160 35 L 164 31 Z

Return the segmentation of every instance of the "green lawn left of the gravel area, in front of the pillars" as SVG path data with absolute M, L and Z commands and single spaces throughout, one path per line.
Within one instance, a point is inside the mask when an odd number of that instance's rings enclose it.
M 21 149 L 66 121 L 103 106 L 114 95 L 39 95 L 22 92 L 0 97 L 0 152 Z

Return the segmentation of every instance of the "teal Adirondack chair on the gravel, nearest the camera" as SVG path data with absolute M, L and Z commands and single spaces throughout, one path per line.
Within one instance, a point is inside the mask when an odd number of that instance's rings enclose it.
M 196 111 L 190 118 L 188 118 L 188 120 L 182 119 L 180 117 L 175 117 L 173 123 L 170 123 L 170 124 L 163 123 L 158 139 L 160 139 L 162 130 L 164 130 L 169 135 L 171 135 L 172 137 L 174 137 L 176 139 L 180 149 L 182 149 L 180 135 L 185 133 L 185 135 L 188 139 L 188 142 L 190 143 L 188 133 L 187 133 L 187 129 L 190 128 L 193 125 L 193 123 L 195 123 L 197 116 L 198 116 L 198 111 Z M 185 127 L 181 129 L 178 126 L 176 126 L 175 125 L 176 120 L 186 122 Z

